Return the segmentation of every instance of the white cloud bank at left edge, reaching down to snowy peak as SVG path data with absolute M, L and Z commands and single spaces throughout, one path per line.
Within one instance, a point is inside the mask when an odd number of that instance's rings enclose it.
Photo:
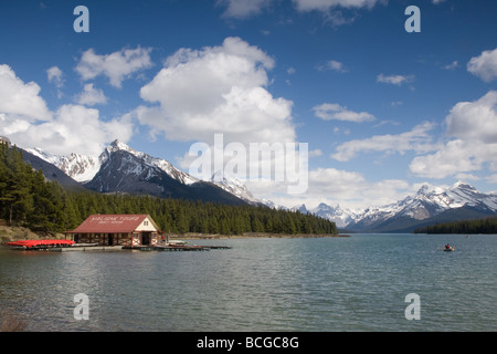
M 0 65 L 0 135 L 18 146 L 98 155 L 110 140 L 127 142 L 131 134 L 130 115 L 105 122 L 97 110 L 71 104 L 50 112 L 36 83 L 24 83 L 10 66 Z

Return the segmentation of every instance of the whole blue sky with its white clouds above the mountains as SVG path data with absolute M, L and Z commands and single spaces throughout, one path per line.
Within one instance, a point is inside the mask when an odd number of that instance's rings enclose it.
M 76 6 L 89 32 L 73 29 Z M 417 6 L 421 32 L 404 14 Z M 188 171 L 195 142 L 308 143 L 294 206 L 497 190 L 495 1 L 2 1 L 0 135 L 52 154 L 115 138 Z

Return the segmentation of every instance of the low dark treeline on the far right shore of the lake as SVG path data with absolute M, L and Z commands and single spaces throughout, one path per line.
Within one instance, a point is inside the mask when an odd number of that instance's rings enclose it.
M 414 230 L 415 233 L 497 233 L 497 217 L 436 223 Z

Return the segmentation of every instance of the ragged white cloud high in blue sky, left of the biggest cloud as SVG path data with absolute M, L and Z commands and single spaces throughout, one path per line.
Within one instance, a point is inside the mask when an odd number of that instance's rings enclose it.
M 151 49 L 123 49 L 112 54 L 95 54 L 93 49 L 85 51 L 76 66 L 76 72 L 83 81 L 93 80 L 98 75 L 109 79 L 113 86 L 120 88 L 124 80 L 152 65 Z

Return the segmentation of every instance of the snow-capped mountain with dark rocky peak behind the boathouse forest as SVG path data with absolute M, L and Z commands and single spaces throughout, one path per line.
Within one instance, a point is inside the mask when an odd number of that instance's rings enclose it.
M 239 180 L 213 176 L 211 181 L 201 181 L 168 160 L 137 152 L 119 140 L 114 140 L 98 157 L 75 153 L 50 155 L 39 148 L 27 150 L 56 166 L 86 188 L 101 192 L 141 192 L 163 197 L 184 194 L 186 198 L 203 199 L 205 195 L 199 195 L 203 190 L 210 196 L 207 200 L 218 200 L 216 195 L 220 195 L 229 202 L 258 202 Z

